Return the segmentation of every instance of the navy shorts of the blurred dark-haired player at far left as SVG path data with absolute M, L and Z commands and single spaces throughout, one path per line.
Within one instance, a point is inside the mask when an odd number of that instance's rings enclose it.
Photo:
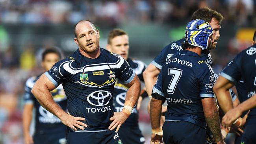
M 65 130 L 35 131 L 33 135 L 34 144 L 66 144 Z

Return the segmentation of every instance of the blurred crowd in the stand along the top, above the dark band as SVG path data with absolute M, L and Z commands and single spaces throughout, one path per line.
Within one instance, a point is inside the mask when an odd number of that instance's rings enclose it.
M 219 11 L 226 22 L 255 26 L 256 0 L 0 0 L 0 22 L 74 24 L 81 19 L 117 25 L 189 19 L 198 7 Z M 237 21 L 239 19 L 239 21 Z

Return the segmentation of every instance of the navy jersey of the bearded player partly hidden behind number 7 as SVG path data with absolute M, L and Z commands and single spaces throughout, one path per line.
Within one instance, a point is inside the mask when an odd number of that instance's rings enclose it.
M 151 62 L 152 65 L 156 66 L 157 68 L 161 69 L 162 65 L 170 58 L 172 57 L 176 52 L 179 52 L 182 50 L 182 43 L 184 43 L 185 39 L 180 39 L 178 41 L 171 42 L 163 50 L 161 51 L 158 56 L 154 58 L 154 60 Z M 210 66 L 212 66 L 211 61 L 211 54 L 201 54 L 201 58 L 208 63 Z

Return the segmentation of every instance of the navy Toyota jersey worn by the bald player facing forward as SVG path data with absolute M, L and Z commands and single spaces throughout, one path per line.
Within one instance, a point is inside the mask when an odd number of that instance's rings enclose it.
M 130 83 L 135 72 L 120 55 L 100 48 L 96 59 L 83 56 L 79 49 L 56 63 L 46 76 L 58 86 L 62 83 L 72 116 L 84 117 L 85 132 L 108 131 L 113 116 L 113 91 L 117 78 Z

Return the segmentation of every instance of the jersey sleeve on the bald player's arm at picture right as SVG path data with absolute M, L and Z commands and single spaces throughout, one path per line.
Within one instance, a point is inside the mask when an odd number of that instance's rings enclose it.
M 120 56 L 121 57 L 121 56 Z M 123 84 L 127 84 L 130 83 L 134 77 L 135 77 L 135 72 L 134 70 L 132 70 L 132 68 L 130 67 L 130 65 L 128 64 L 128 62 L 121 57 L 121 59 L 123 59 L 123 63 L 120 67 L 120 76 L 119 79 L 122 81 Z

